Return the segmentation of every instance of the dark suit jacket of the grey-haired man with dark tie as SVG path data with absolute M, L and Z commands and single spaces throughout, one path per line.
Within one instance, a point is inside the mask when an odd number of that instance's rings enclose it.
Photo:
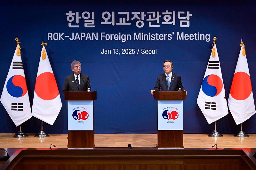
M 65 78 L 62 92 L 64 92 L 64 91 L 87 92 L 88 88 L 90 88 L 90 90 L 92 91 L 89 76 L 87 76 L 85 74 L 80 75 L 80 85 L 79 85 L 79 89 L 77 89 L 76 79 L 75 79 L 75 76 L 73 73 Z

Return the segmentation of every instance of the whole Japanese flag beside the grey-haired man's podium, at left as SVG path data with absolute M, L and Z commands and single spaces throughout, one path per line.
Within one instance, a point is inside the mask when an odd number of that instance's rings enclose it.
M 58 86 L 43 46 L 36 77 L 32 115 L 52 125 L 60 113 L 61 106 Z

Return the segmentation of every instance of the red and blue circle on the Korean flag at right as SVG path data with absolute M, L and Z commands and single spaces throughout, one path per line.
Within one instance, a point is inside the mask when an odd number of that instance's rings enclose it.
M 222 91 L 222 84 L 222 80 L 219 76 L 210 74 L 204 78 L 202 83 L 202 90 L 207 96 L 218 96 Z

